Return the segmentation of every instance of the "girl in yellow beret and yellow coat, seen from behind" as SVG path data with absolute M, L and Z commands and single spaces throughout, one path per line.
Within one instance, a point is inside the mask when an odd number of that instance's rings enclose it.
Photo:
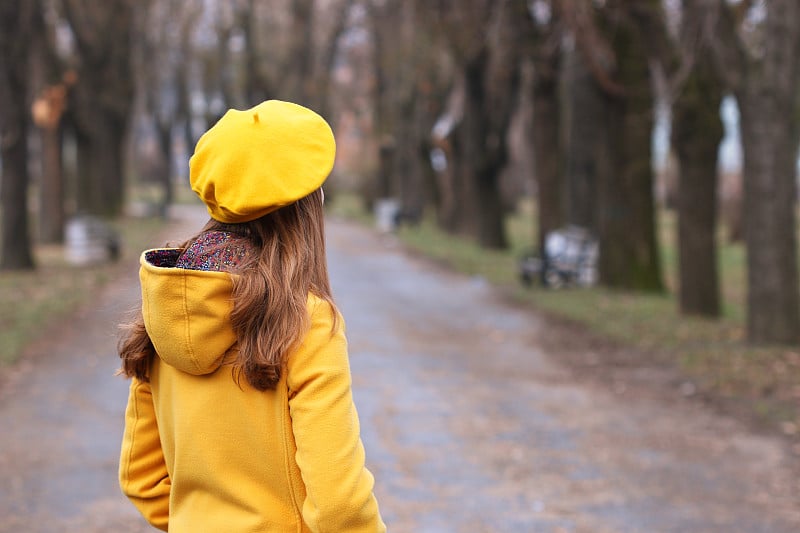
M 334 155 L 304 107 L 228 111 L 190 161 L 212 220 L 142 254 L 142 313 L 119 347 L 119 480 L 159 529 L 386 530 L 328 282 L 320 187 Z

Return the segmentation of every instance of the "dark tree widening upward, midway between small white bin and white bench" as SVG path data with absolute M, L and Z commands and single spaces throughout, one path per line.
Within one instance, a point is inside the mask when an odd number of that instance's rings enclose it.
M 463 84 L 463 112 L 451 136 L 457 231 L 486 247 L 507 245 L 499 178 L 520 87 L 527 6 L 512 0 L 435 2 L 436 22 Z

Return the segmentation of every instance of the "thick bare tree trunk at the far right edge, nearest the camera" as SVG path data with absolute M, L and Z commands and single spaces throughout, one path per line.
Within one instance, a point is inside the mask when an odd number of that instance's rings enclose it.
M 708 15 L 705 31 L 716 36 L 719 73 L 736 95 L 741 113 L 748 338 L 796 343 L 800 3 L 702 4 Z M 743 28 L 750 26 L 757 30 L 745 34 Z

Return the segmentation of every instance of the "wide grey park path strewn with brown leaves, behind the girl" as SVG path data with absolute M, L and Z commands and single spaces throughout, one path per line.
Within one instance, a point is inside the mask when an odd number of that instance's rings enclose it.
M 202 210 L 172 228 L 188 237 Z M 354 394 L 393 533 L 800 531 L 797 460 L 676 395 L 576 380 L 537 315 L 479 279 L 328 225 Z M 159 245 L 161 242 L 154 242 Z M 0 391 L 0 532 L 151 531 L 119 494 L 115 324 L 135 262 Z

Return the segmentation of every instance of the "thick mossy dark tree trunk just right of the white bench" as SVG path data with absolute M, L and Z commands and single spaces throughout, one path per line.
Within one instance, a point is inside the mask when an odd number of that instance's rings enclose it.
M 601 89 L 605 133 L 594 153 L 600 281 L 661 291 L 651 166 L 654 98 L 643 11 L 659 0 L 603 5 L 561 0 L 581 57 Z M 651 17 L 652 18 L 652 17 Z

